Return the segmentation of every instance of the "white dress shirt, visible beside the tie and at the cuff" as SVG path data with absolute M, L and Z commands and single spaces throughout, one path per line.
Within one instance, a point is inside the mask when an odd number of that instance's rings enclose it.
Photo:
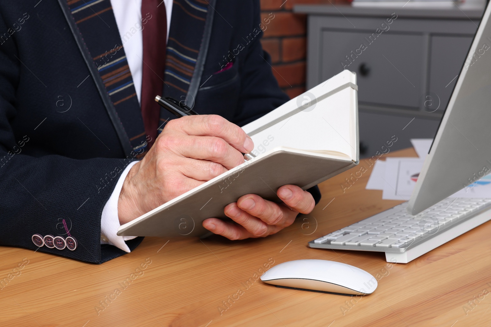
M 145 28 L 143 22 L 156 19 L 155 17 L 141 15 L 141 0 L 111 0 L 112 11 L 116 18 L 119 35 L 123 42 L 126 59 L 135 85 L 136 97 L 141 103 L 141 79 L 143 58 L 143 33 Z M 169 38 L 170 17 L 172 14 L 172 0 L 163 0 L 159 5 L 165 5 L 167 14 L 167 39 Z M 129 32 L 129 33 L 128 33 Z M 128 37 L 131 35 L 130 37 Z M 128 175 L 131 167 L 136 164 L 132 162 L 119 176 L 116 187 L 112 191 L 109 200 L 102 210 L 101 217 L 101 244 L 110 244 L 119 249 L 130 252 L 130 248 L 124 241 L 134 239 L 136 236 L 117 236 L 119 228 L 118 199 L 123 187 L 123 181 Z

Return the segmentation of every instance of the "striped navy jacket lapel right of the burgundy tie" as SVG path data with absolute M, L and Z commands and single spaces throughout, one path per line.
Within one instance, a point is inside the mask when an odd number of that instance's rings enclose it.
M 167 41 L 164 97 L 183 101 L 191 108 L 208 53 L 215 0 L 174 0 Z M 199 108 L 197 109 L 199 113 Z M 161 110 L 162 126 L 175 118 Z

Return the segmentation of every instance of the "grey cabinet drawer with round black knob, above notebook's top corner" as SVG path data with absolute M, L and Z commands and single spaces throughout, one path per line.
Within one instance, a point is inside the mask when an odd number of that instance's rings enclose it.
M 357 75 L 360 103 L 418 109 L 424 92 L 422 34 L 323 30 L 321 41 L 322 80 L 344 67 Z

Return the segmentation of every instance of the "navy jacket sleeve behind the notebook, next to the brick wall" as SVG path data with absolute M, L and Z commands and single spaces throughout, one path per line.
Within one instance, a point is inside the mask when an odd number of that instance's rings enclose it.
M 260 3 L 259 0 L 254 0 L 253 2 L 255 12 L 253 27 L 260 29 Z M 261 26 L 265 25 L 261 24 Z M 234 117 L 234 123 L 239 126 L 244 126 L 264 116 L 290 100 L 281 91 L 273 75 L 271 57 L 261 46 L 260 39 L 262 35 L 263 31 L 261 30 L 258 37 L 248 46 L 247 55 L 242 67 L 239 110 Z M 312 194 L 315 203 L 319 203 L 321 200 L 319 188 L 314 186 L 307 191 Z

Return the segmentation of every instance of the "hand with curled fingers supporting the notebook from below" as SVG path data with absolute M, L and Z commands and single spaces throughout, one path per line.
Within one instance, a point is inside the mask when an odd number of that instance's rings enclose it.
M 265 237 L 293 224 L 299 213 L 308 214 L 315 205 L 312 195 L 295 185 L 281 186 L 276 192 L 283 203 L 264 200 L 247 194 L 224 209 L 225 215 L 235 223 L 209 218 L 203 226 L 231 240 Z

